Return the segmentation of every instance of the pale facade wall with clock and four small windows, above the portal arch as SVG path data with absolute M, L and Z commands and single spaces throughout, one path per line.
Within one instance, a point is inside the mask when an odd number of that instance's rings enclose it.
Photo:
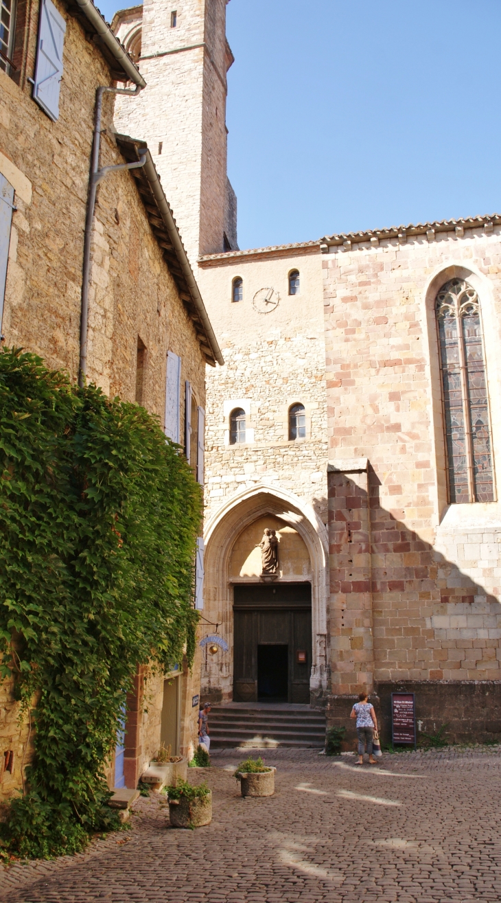
M 302 293 L 288 294 L 297 268 Z M 243 279 L 243 301 L 232 302 L 233 279 Z M 228 498 L 259 481 L 276 482 L 308 503 L 327 523 L 327 413 L 320 265 L 318 256 L 201 262 L 199 283 L 218 333 L 225 366 L 208 370 L 206 504 L 212 517 Z M 255 293 L 273 286 L 274 311 L 255 310 Z M 306 437 L 290 442 L 291 405 L 305 407 Z M 232 410 L 247 414 L 250 442 L 229 444 Z

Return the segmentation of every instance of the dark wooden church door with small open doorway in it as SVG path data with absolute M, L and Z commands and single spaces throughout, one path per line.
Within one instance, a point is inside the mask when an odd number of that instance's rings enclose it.
M 236 702 L 310 703 L 311 583 L 234 588 Z

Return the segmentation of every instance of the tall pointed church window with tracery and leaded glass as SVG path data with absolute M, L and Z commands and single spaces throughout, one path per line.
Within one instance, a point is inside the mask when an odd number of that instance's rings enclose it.
M 443 416 L 451 503 L 491 502 L 494 479 L 478 294 L 450 279 L 437 295 Z

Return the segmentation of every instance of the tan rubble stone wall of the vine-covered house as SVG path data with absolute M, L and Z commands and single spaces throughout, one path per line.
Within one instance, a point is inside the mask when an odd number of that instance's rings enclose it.
M 17 206 L 3 328 L 7 347 L 34 351 L 49 367 L 67 370 L 76 381 L 94 106 L 97 87 L 111 84 L 111 77 L 97 46 L 88 41 L 66 6 L 57 0 L 56 5 L 67 23 L 58 121 L 52 122 L 33 102 L 25 79 L 18 86 L 0 71 L 0 119 L 5 126 L 0 172 L 14 185 Z M 32 50 L 36 24 L 32 19 L 28 35 Z M 27 74 L 32 77 L 33 73 Z M 107 95 L 101 165 L 124 163 L 114 137 L 113 113 L 114 98 Z M 193 324 L 153 236 L 135 179 L 130 172 L 119 172 L 108 175 L 97 192 L 89 288 L 89 381 L 110 396 L 135 401 L 138 340 L 145 346 L 141 401 L 161 424 L 168 349 L 181 356 L 181 386 L 189 379 L 199 405 L 205 405 L 205 363 Z M 182 393 L 181 435 L 183 431 Z M 181 749 L 186 753 L 196 739 L 190 699 L 199 692 L 199 675 L 186 671 L 180 679 L 185 684 L 182 704 L 189 706 L 187 712 L 181 712 Z M 4 749 L 0 754 L 14 751 L 14 774 L 11 777 L 5 772 L 2 777 L 2 790 L 9 795 L 21 786 L 23 754 L 27 764 L 32 747 L 27 749 L 26 724 L 16 721 L 18 703 L 12 687 L 5 684 L 1 692 Z M 156 706 L 158 710 L 157 703 L 158 699 L 153 700 L 153 709 Z M 142 706 L 135 715 L 138 730 L 144 732 L 143 752 L 135 750 L 134 754 L 136 768 L 142 768 L 141 756 L 147 758 L 155 751 L 153 747 L 158 748 L 159 721 L 152 718 L 149 726 L 143 722 Z M 131 712 L 133 721 L 134 717 Z M 131 722 L 131 730 L 132 726 Z

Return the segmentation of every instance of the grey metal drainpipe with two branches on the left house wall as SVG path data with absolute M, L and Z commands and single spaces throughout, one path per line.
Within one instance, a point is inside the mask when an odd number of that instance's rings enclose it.
M 94 210 L 96 209 L 97 185 L 105 178 L 108 172 L 125 169 L 139 169 L 146 162 L 146 151 L 141 152 L 141 159 L 137 163 L 119 163 L 117 166 L 103 166 L 99 169 L 99 148 L 101 144 L 101 119 L 103 112 L 103 94 L 108 91 L 112 94 L 125 94 L 135 97 L 143 89 L 143 85 L 136 85 L 134 91 L 125 88 L 97 88 L 96 93 L 96 117 L 94 123 L 94 140 L 92 144 L 92 162 L 90 168 L 90 180 L 88 183 L 87 216 L 85 221 L 84 260 L 82 274 L 82 303 L 80 311 L 80 361 L 79 361 L 79 386 L 85 384 L 87 376 L 87 331 L 88 331 L 88 284 L 90 275 L 90 247 L 92 243 L 92 223 Z

